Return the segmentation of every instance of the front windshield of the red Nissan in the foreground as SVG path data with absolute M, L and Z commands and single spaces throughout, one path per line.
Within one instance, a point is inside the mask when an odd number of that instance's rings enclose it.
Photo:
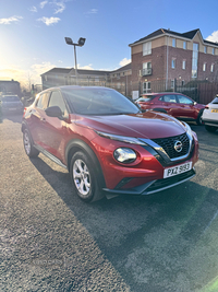
M 82 115 L 136 114 L 138 107 L 117 91 L 109 89 L 64 89 L 72 112 Z

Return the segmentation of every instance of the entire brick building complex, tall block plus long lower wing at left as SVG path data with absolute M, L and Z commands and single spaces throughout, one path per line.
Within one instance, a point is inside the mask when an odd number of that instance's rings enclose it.
M 190 81 L 218 81 L 218 44 L 199 30 L 183 34 L 160 28 L 129 45 L 132 62 L 113 71 L 77 69 L 78 85 L 113 87 L 124 95 L 175 90 Z M 43 89 L 76 84 L 74 68 L 41 74 Z

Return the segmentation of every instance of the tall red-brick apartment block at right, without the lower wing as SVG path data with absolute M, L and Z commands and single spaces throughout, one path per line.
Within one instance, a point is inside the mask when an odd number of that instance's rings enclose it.
M 218 72 L 218 44 L 203 39 L 199 30 L 183 34 L 160 28 L 129 45 L 133 90 L 146 93 L 191 80 L 214 81 Z

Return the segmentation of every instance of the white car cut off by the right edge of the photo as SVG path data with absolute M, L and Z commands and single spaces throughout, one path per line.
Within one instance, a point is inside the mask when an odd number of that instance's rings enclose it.
M 215 132 L 218 129 L 218 94 L 206 105 L 202 119 L 207 131 Z

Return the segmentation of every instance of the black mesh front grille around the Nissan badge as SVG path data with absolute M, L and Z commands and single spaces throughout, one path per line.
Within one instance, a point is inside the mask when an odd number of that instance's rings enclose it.
M 160 145 L 170 159 L 177 159 L 177 157 L 186 155 L 190 150 L 190 139 L 186 133 L 182 133 L 182 135 L 174 136 L 174 137 L 168 137 L 168 138 L 153 139 L 153 141 L 157 143 L 158 145 Z M 177 141 L 182 142 L 181 152 L 178 152 L 174 149 L 174 143 Z

